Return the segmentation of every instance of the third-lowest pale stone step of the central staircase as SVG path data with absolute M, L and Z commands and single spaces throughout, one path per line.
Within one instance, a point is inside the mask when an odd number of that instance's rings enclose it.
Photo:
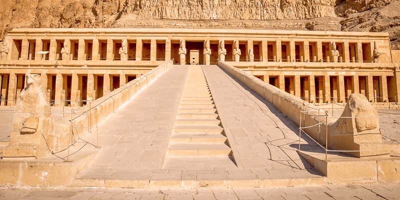
M 179 133 L 200 133 L 200 134 L 221 134 L 223 128 L 219 125 L 175 125 L 172 134 Z

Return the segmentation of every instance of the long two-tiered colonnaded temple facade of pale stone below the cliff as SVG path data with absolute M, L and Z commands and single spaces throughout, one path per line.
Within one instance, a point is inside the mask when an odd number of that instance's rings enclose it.
M 0 46 L 1 104 L 12 106 L 27 73 L 45 80 L 54 106 L 82 106 L 146 71 L 174 64 L 240 68 L 312 103 L 398 102 L 397 51 L 387 33 L 256 29 L 13 29 Z

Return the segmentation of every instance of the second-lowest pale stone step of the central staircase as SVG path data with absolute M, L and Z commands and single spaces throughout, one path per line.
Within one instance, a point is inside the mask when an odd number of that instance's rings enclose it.
M 222 134 L 178 133 L 171 135 L 169 143 L 224 143 L 226 139 Z

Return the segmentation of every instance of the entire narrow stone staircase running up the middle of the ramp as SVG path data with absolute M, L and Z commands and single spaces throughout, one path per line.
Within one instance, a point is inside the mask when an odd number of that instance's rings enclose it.
M 201 66 L 189 66 L 172 134 L 166 149 L 164 168 L 185 162 L 228 158 L 234 164 L 212 94 Z M 209 163 L 209 162 L 208 162 Z M 212 165 L 211 163 L 209 163 Z M 218 164 L 218 163 L 214 163 Z

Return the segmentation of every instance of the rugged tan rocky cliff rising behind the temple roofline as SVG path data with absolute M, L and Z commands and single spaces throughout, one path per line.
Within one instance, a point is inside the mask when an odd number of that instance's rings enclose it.
M 389 32 L 400 0 L 0 0 L 0 38 L 15 27 L 253 27 Z

